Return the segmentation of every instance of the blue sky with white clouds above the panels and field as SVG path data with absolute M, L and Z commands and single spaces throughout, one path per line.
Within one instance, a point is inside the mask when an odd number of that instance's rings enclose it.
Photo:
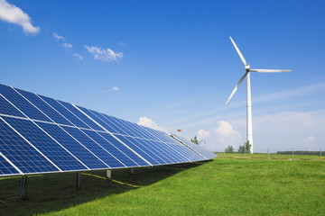
M 1 83 L 257 152 L 325 149 L 324 1 L 0 0 Z

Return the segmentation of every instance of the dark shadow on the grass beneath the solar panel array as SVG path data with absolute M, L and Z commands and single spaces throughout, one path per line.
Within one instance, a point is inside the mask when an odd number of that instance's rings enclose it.
M 150 170 L 144 167 L 136 168 L 133 175 L 129 175 L 129 169 L 116 169 L 112 170 L 111 180 L 107 180 L 105 170 L 81 172 L 79 190 L 75 187 L 76 173 L 30 175 L 27 199 L 24 201 L 19 200 L 21 176 L 0 178 L 0 215 L 32 215 L 60 211 L 83 202 L 154 184 L 201 164 L 154 166 Z

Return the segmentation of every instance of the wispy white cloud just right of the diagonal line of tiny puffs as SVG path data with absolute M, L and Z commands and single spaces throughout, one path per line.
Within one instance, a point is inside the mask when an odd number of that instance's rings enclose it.
M 115 52 L 112 49 L 101 49 L 95 46 L 88 47 L 87 45 L 84 45 L 84 47 L 88 50 L 90 54 L 94 56 L 95 59 L 101 60 L 101 61 L 117 61 L 118 58 L 123 58 L 122 52 Z

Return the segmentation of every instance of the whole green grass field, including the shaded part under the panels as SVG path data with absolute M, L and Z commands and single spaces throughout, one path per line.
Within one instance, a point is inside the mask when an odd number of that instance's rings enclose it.
M 325 215 L 325 161 L 243 157 L 82 173 L 80 190 L 73 173 L 29 176 L 25 201 L 1 178 L 0 215 Z

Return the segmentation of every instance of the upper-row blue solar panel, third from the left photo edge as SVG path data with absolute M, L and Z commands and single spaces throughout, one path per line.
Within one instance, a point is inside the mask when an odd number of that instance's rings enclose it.
M 16 89 L 20 94 L 23 94 L 23 96 L 29 100 L 32 104 L 37 106 L 43 113 L 45 113 L 48 117 L 51 118 L 52 121 L 60 123 L 60 124 L 66 124 L 66 125 L 72 125 L 70 121 L 67 121 L 62 115 L 60 115 L 59 112 L 56 112 L 51 106 L 47 103 L 45 103 L 39 96 L 36 94 L 26 92 L 20 89 Z

